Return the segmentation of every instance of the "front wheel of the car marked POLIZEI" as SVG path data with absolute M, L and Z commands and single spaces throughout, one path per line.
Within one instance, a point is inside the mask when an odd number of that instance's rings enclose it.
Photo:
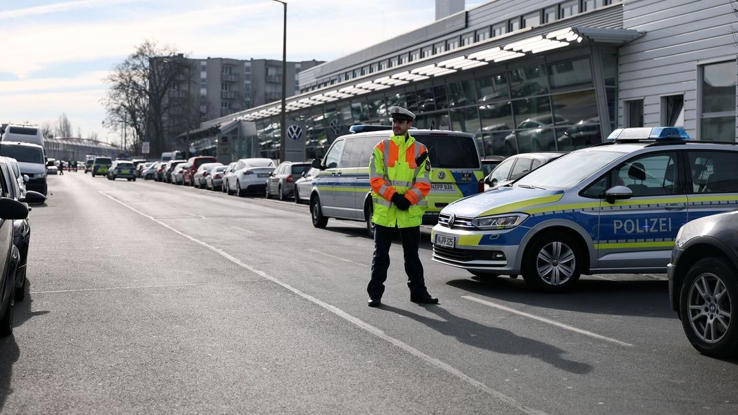
M 534 289 L 556 293 L 576 284 L 582 273 L 582 251 L 562 232 L 537 237 L 523 257 L 523 279 Z

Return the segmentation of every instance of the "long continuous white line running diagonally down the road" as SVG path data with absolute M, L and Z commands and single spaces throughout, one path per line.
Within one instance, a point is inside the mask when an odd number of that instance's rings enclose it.
M 405 352 L 410 353 L 411 355 L 415 356 L 416 358 L 419 358 L 421 360 L 426 361 L 427 363 L 432 364 L 433 366 L 437 367 L 438 369 L 443 370 L 446 373 L 452 374 L 455 377 L 458 377 L 459 379 L 463 380 L 466 383 L 469 383 L 469 385 L 475 386 L 479 388 L 481 391 L 486 392 L 487 394 L 490 394 L 491 396 L 497 398 L 498 400 L 505 402 L 506 404 L 510 405 L 512 408 L 517 409 L 518 411 L 521 411 L 525 414 L 545 414 L 543 411 L 539 411 L 534 408 L 529 408 L 528 406 L 523 405 L 522 403 L 518 402 L 512 397 L 508 397 L 506 394 L 503 394 L 500 391 L 496 391 L 492 388 L 489 388 L 489 386 L 486 386 L 484 383 L 481 383 L 479 380 L 476 380 L 473 377 L 470 377 L 467 374 L 464 374 L 459 369 L 456 369 L 455 367 L 449 365 L 448 363 L 445 363 L 437 358 L 433 358 L 430 355 L 426 355 L 424 352 L 421 352 L 418 349 L 415 349 L 415 347 L 410 346 L 410 344 L 404 343 L 404 341 L 401 341 L 399 339 L 393 338 L 390 335 L 387 335 L 382 331 L 382 329 L 379 329 L 377 327 L 372 326 L 371 324 L 368 324 L 366 321 L 363 321 L 359 318 L 354 317 L 351 314 L 346 313 L 345 311 L 339 309 L 338 307 L 328 304 L 325 301 L 322 301 L 320 299 L 315 298 L 314 296 L 311 296 L 309 294 L 303 293 L 300 290 L 297 290 L 297 288 L 292 287 L 289 284 L 286 284 L 285 282 L 281 282 L 279 279 L 275 278 L 274 276 L 269 275 L 268 273 L 258 270 L 254 267 L 252 267 L 249 264 L 246 264 L 244 262 L 241 262 L 240 259 L 233 257 L 231 254 L 228 254 L 226 251 L 223 251 L 220 248 L 215 248 L 215 246 L 210 245 L 208 243 L 204 243 L 201 240 L 198 240 L 194 237 L 190 237 L 190 235 L 185 234 L 182 231 L 178 231 L 177 229 L 174 229 L 173 227 L 167 225 L 166 223 L 162 222 L 161 220 L 157 220 L 155 217 L 152 217 L 150 215 L 146 215 L 143 212 L 138 211 L 137 209 L 134 209 L 131 206 L 128 206 L 127 204 L 123 203 L 123 201 L 118 200 L 111 195 L 108 195 L 106 192 L 100 191 L 100 194 L 103 196 L 106 196 L 107 198 L 110 198 L 111 200 L 114 200 L 117 203 L 120 203 L 122 206 L 125 206 L 128 209 L 131 209 L 131 211 L 136 212 L 137 214 L 147 217 L 150 220 L 153 220 L 154 222 L 158 223 L 161 226 L 164 226 L 166 229 L 169 229 L 170 231 L 173 231 L 176 234 L 182 235 L 182 237 L 187 238 L 188 240 L 191 240 L 193 243 L 197 243 L 198 245 L 203 246 L 204 248 L 209 249 L 210 251 L 215 252 L 215 254 L 220 255 L 221 257 L 224 257 L 225 259 L 228 259 L 230 262 L 233 262 L 235 265 L 240 266 L 241 268 L 245 268 L 248 271 L 251 271 L 252 273 L 257 274 L 258 276 L 262 276 L 263 278 L 269 279 L 270 281 L 274 282 L 277 285 L 281 285 L 282 287 L 286 288 L 287 290 L 292 291 L 292 293 L 297 294 L 297 296 L 303 297 L 303 299 L 306 299 L 308 301 L 313 302 L 314 304 L 319 305 L 320 307 L 325 308 L 325 310 L 330 311 L 331 313 L 334 313 L 335 315 L 339 316 L 340 318 L 343 318 L 346 321 L 349 321 L 353 324 L 355 324 L 357 327 L 365 329 L 367 332 L 370 332 L 373 335 L 376 335 L 376 337 L 381 338 L 384 341 L 387 341 L 389 343 L 392 343 L 393 345 L 399 347 L 400 349 L 403 349 Z

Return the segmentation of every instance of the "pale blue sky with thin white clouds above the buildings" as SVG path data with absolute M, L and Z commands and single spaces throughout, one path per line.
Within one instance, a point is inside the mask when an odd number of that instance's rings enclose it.
M 287 3 L 287 60 L 333 60 L 435 20 L 435 0 Z M 65 113 L 75 135 L 118 143 L 102 125 L 103 80 L 137 45 L 281 60 L 282 19 L 272 0 L 1 0 L 0 122 L 55 124 Z

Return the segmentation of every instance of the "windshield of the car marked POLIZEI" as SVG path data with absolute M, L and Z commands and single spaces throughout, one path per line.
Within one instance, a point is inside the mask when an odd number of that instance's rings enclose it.
M 575 151 L 544 164 L 523 176 L 513 186 L 563 190 L 576 186 L 594 172 L 623 156 L 617 151 Z

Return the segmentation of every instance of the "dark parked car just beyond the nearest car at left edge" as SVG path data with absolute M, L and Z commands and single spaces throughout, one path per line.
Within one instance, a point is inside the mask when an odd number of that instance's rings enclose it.
M 21 192 L 18 180 L 13 170 L 13 158 L 0 157 L 0 170 L 7 180 L 7 197 L 18 200 L 21 203 L 44 203 L 46 196 L 41 193 L 29 191 Z M 30 211 L 30 209 L 28 209 Z M 18 248 L 20 259 L 18 269 L 15 271 L 15 301 L 21 301 L 26 296 L 26 270 L 28 264 L 28 248 L 31 240 L 31 226 L 28 218 L 13 221 L 13 245 Z

